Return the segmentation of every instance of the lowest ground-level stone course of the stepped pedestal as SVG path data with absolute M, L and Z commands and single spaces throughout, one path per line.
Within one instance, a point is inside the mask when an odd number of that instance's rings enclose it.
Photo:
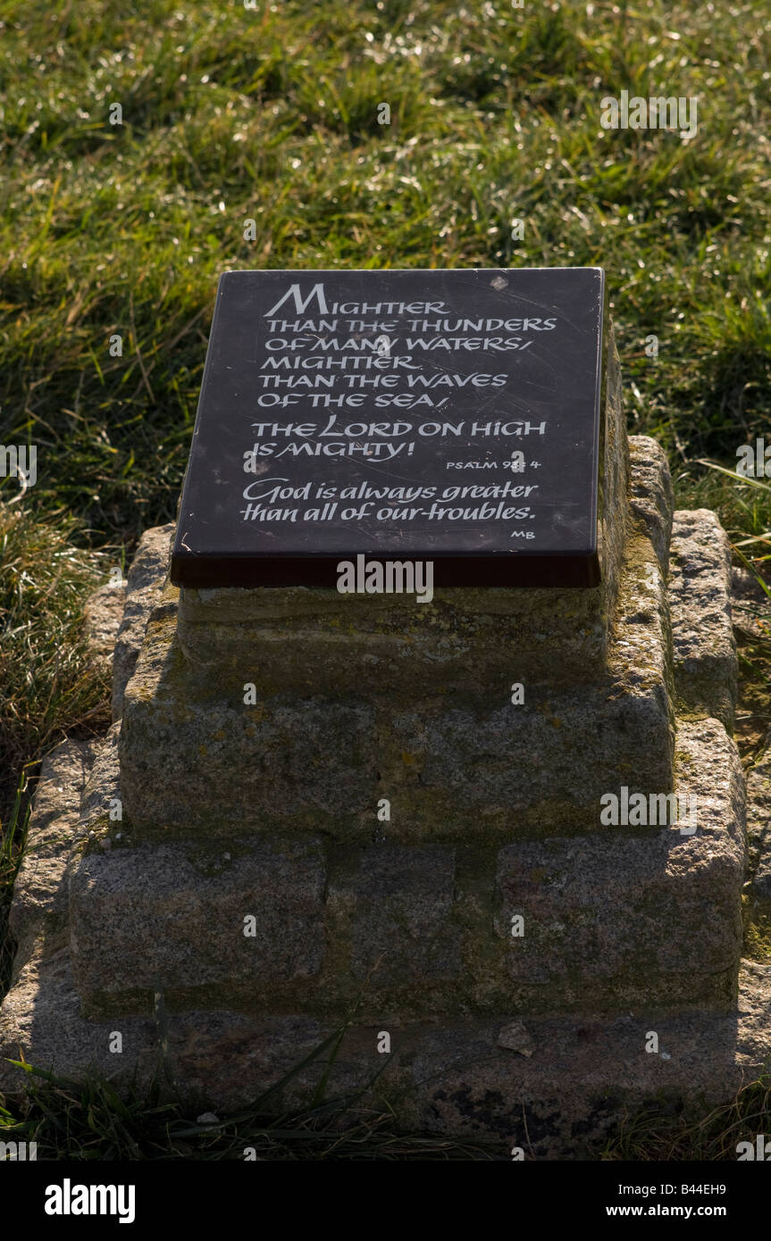
M 771 1057 L 771 967 L 745 963 L 736 1008 L 725 1014 L 662 1016 L 637 1010 L 602 1019 L 580 1016 L 526 1021 L 530 1056 L 502 1045 L 512 1018 L 392 1026 L 392 1057 L 359 1106 L 389 1106 L 404 1127 L 519 1145 L 525 1158 L 580 1158 L 615 1126 L 646 1106 L 688 1108 L 730 1102 L 737 1088 L 766 1071 Z M 338 1051 L 328 1097 L 366 1086 L 382 1069 L 382 1024 L 355 1026 Z M 123 1034 L 124 1052 L 109 1055 Z M 656 1030 L 659 1054 L 646 1052 Z M 170 1014 L 166 1066 L 191 1107 L 217 1114 L 252 1103 L 334 1031 L 308 1016 L 248 1016 L 230 1010 Z M 26 1059 L 61 1072 L 84 1066 L 120 1083 L 137 1069 L 147 1088 L 159 1069 L 160 1031 L 137 1018 L 86 1021 L 65 953 L 27 965 L 0 1010 L 0 1090 L 21 1087 L 4 1057 Z M 505 1039 L 504 1039 L 505 1044 Z M 665 1055 L 662 1055 L 664 1052 Z M 279 1092 L 267 1111 L 308 1103 L 329 1051 Z M 163 1077 L 160 1077 L 163 1085 Z M 737 1140 L 744 1134 L 737 1134 Z M 595 1145 L 596 1153 L 596 1145 Z

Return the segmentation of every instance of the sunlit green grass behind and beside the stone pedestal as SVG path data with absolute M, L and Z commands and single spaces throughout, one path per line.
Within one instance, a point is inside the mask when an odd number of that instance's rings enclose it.
M 0 479 L 0 890 L 17 774 L 104 711 L 83 601 L 175 516 L 225 268 L 605 267 L 629 431 L 766 575 L 771 493 L 704 463 L 770 426 L 770 52 L 760 0 L 0 0 L 0 442 L 38 470 Z M 697 135 L 603 130 L 622 89 Z

